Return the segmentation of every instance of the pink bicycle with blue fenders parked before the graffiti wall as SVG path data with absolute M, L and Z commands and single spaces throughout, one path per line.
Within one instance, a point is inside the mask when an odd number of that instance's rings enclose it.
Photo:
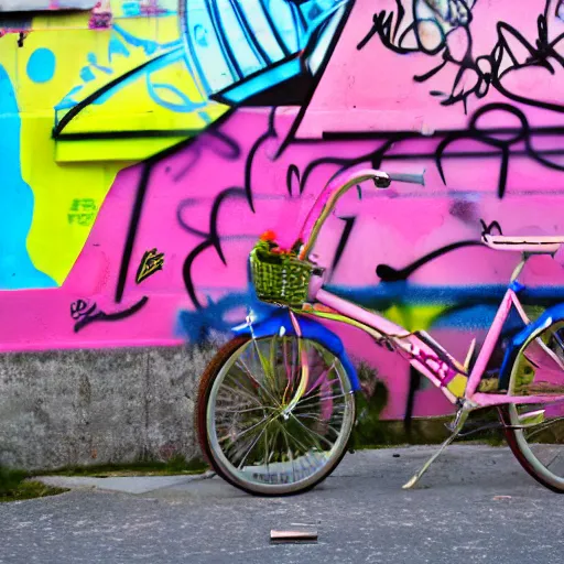
M 529 258 L 554 257 L 564 237 L 482 231 L 484 245 L 520 252 L 521 261 L 479 354 L 474 354 L 474 339 L 459 362 L 427 333 L 408 332 L 323 288 L 326 269 L 312 253 L 317 236 L 338 198 L 369 180 L 378 189 L 392 181 L 424 185 L 423 175 L 360 171 L 337 189 L 326 186 L 291 250 L 280 249 L 271 232 L 252 249 L 257 296 L 279 307 L 262 319 L 249 315 L 235 327 L 235 337 L 204 372 L 196 406 L 204 455 L 219 476 L 253 495 L 297 494 L 329 476 L 347 452 L 355 394 L 361 389 L 340 338 L 322 323 L 335 321 L 401 355 L 456 406 L 451 436 L 403 488 L 419 481 L 470 412 L 489 406 L 497 408 L 499 425 L 523 468 L 549 489 L 564 492 L 564 460 L 557 452 L 564 442 L 564 304 L 531 321 L 518 297 L 524 289 L 518 276 Z M 507 337 L 502 330 L 510 318 L 513 333 Z M 502 362 L 492 371 L 488 364 L 502 343 Z

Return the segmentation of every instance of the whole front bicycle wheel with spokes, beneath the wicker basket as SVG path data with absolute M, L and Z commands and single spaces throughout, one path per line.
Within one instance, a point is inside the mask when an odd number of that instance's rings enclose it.
M 313 488 L 341 460 L 355 398 L 343 365 L 319 343 L 238 337 L 204 373 L 196 416 L 218 475 L 249 494 L 285 496 Z

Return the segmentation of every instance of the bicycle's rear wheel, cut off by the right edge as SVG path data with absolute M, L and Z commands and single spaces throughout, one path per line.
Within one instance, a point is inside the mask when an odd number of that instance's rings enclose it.
M 528 340 L 516 358 L 512 395 L 564 393 L 564 322 Z M 564 494 L 564 397 L 551 403 L 509 404 L 500 409 L 508 444 L 521 466 L 540 484 Z

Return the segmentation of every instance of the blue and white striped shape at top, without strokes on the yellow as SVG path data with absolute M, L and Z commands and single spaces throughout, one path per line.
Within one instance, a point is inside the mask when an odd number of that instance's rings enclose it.
M 348 0 L 184 0 L 184 36 L 205 95 L 242 100 L 297 76 L 312 47 L 315 73 Z

